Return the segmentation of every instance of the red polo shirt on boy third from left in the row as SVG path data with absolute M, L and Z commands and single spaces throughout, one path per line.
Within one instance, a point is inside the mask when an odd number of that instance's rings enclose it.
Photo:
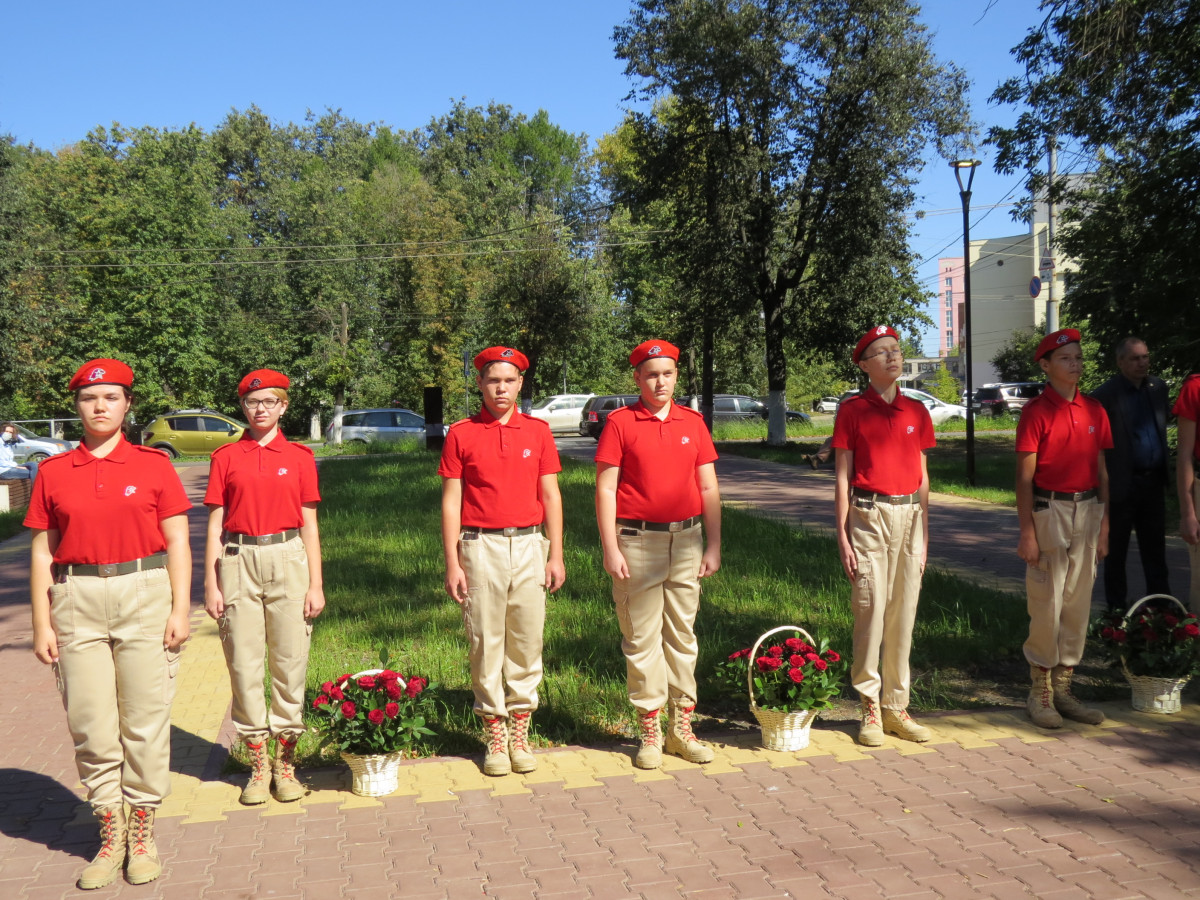
M 541 476 L 562 472 L 550 426 L 521 412 L 508 425 L 484 407 L 450 426 L 442 446 L 442 478 L 462 480 L 466 528 L 541 524 Z

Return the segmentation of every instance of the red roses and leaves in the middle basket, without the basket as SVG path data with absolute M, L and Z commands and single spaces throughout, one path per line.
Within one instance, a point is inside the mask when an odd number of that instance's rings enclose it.
M 781 643 L 731 653 L 718 665 L 718 677 L 739 694 L 748 694 L 746 665 L 752 666 L 755 702 L 762 709 L 794 713 L 830 709 L 846 678 L 846 660 L 827 641 L 814 647 L 799 635 Z

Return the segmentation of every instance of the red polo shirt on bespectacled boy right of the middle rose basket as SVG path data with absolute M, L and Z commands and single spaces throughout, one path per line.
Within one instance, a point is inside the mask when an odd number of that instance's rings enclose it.
M 900 389 L 888 403 L 871 385 L 838 407 L 833 446 L 854 454 L 851 487 L 900 497 L 920 488 L 920 455 L 937 442 L 929 410 Z

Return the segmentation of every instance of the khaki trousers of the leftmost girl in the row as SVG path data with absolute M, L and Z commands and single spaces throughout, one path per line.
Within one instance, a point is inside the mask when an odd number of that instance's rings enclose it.
M 92 806 L 158 806 L 170 793 L 180 653 L 162 646 L 168 616 L 166 569 L 68 575 L 50 587 L 55 677 Z

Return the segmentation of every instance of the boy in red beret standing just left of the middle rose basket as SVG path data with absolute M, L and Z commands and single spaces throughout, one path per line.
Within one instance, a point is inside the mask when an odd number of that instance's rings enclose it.
M 596 522 L 641 732 L 634 764 L 642 769 L 662 764 L 659 712 L 668 703 L 666 751 L 713 761 L 691 716 L 700 580 L 721 568 L 721 494 L 704 420 L 672 401 L 678 360 L 679 349 L 666 341 L 634 348 L 629 362 L 641 397 L 608 416 L 595 457 Z

